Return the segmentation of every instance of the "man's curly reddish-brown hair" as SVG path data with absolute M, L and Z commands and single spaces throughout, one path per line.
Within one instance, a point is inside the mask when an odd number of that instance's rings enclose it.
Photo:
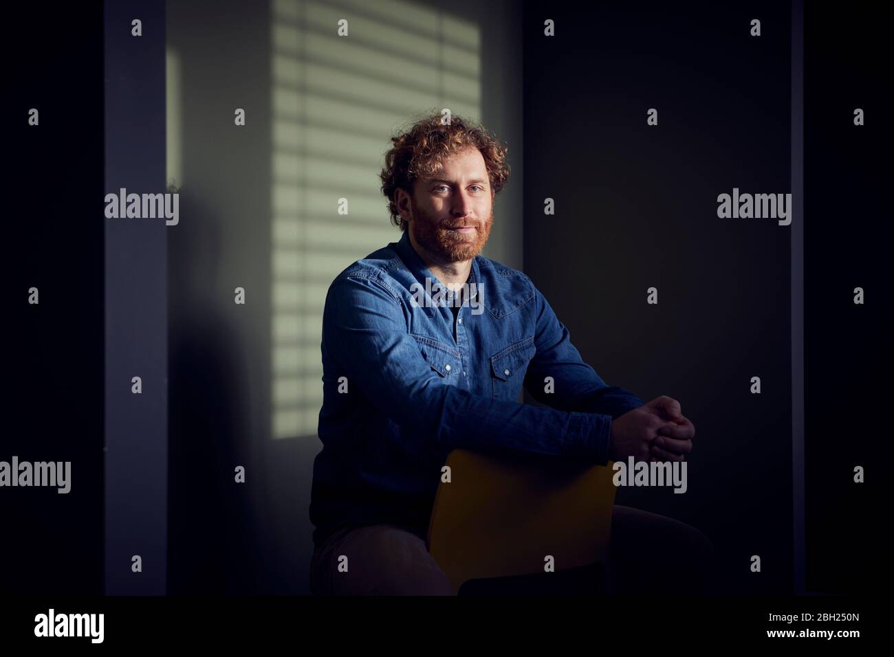
M 451 115 L 450 123 L 445 124 L 442 114 L 429 114 L 391 140 L 392 148 L 385 154 L 385 165 L 379 178 L 382 179 L 382 193 L 388 198 L 392 223 L 401 231 L 407 230 L 407 225 L 398 212 L 394 193 L 400 189 L 412 195 L 413 183 L 418 178 L 440 171 L 447 156 L 468 147 L 477 147 L 485 158 L 494 196 L 509 179 L 510 168 L 506 164 L 509 148 L 481 124 L 460 116 Z

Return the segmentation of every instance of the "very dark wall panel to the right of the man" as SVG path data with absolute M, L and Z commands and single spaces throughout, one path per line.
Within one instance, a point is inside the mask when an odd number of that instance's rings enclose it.
M 669 395 L 696 425 L 687 493 L 620 488 L 618 503 L 702 529 L 722 590 L 787 593 L 791 232 L 721 220 L 716 199 L 791 191 L 790 7 L 642 9 L 527 4 L 525 268 L 603 379 Z

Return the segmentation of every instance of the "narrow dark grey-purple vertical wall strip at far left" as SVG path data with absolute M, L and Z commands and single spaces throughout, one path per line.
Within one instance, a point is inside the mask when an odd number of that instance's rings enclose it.
M 141 21 L 133 36 L 131 21 Z M 164 191 L 164 3 L 105 4 L 105 190 Z M 167 231 L 105 220 L 105 593 L 167 577 Z M 139 394 L 131 392 L 139 376 Z M 139 556 L 141 571 L 134 572 Z

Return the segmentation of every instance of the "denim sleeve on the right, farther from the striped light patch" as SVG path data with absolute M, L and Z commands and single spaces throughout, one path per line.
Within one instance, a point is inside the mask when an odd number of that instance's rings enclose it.
M 633 392 L 605 383 L 580 357 L 568 328 L 540 291 L 535 301 L 537 351 L 525 375 L 525 388 L 534 399 L 553 409 L 599 413 L 612 419 L 645 404 Z M 547 392 L 547 376 L 552 377 L 552 392 Z

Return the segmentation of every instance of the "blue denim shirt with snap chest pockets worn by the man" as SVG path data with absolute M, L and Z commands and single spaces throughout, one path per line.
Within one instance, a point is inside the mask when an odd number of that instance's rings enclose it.
M 604 465 L 611 420 L 644 403 L 583 362 L 519 270 L 475 257 L 464 305 L 439 299 L 439 285 L 404 232 L 329 287 L 323 451 L 309 508 L 317 544 L 346 525 L 388 522 L 424 534 L 457 448 Z M 551 408 L 519 403 L 522 385 Z

